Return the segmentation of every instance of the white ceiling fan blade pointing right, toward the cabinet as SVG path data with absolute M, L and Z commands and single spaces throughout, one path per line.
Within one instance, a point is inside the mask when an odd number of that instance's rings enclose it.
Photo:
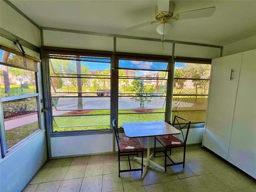
M 216 7 L 209 7 L 178 13 L 179 20 L 210 17 L 214 14 Z

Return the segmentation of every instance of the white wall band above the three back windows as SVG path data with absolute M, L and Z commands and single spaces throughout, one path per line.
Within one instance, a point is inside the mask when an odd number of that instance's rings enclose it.
M 71 32 L 43 30 L 44 46 L 114 51 L 114 38 Z M 172 43 L 116 38 L 116 51 L 141 54 L 172 55 Z M 218 58 L 219 48 L 175 44 L 175 56 Z

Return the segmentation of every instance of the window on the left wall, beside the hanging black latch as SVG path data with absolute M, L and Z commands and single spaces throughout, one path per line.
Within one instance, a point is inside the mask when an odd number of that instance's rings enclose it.
M 36 61 L 30 58 L 24 61 L 22 56 L 0 49 L 0 113 L 3 114 L 0 125 L 4 154 L 40 129 L 36 72 Z

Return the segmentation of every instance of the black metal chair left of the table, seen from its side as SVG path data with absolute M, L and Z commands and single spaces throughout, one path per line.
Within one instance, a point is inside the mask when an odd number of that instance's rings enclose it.
M 143 146 L 139 138 L 128 138 L 128 137 L 119 137 L 118 128 L 116 126 L 116 119 L 112 121 L 112 125 L 116 135 L 116 142 L 118 146 L 118 176 L 120 177 L 120 172 L 130 172 L 130 171 L 141 171 L 141 175 L 143 172 Z M 130 163 L 130 155 L 136 155 L 138 157 L 138 153 L 142 154 L 142 162 L 141 168 L 132 169 Z M 121 170 L 120 169 L 120 156 L 128 156 L 130 169 Z

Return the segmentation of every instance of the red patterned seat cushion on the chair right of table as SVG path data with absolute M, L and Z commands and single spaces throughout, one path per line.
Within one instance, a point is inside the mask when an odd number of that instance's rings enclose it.
M 156 139 L 164 146 L 164 148 L 181 147 L 184 142 L 173 135 L 156 136 Z

